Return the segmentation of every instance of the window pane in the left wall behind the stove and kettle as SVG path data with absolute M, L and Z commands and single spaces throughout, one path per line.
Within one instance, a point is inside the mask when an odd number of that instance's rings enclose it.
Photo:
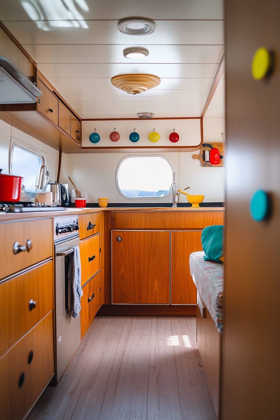
M 39 173 L 43 165 L 42 156 L 14 145 L 11 155 L 11 174 L 23 176 L 25 191 L 34 192 L 38 187 Z

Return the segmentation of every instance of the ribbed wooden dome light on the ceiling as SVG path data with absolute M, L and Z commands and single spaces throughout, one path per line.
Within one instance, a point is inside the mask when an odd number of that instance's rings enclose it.
M 111 83 L 118 89 L 136 95 L 158 86 L 160 78 L 154 74 L 119 74 L 112 77 Z

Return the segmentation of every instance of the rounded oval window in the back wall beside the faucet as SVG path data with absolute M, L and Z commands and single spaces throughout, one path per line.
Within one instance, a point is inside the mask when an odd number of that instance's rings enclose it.
M 116 172 L 118 191 L 126 198 L 162 198 L 169 194 L 173 169 L 164 157 L 128 156 Z

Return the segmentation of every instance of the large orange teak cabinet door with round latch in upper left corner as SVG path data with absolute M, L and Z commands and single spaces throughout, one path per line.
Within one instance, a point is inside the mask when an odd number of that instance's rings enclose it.
M 170 232 L 113 231 L 112 282 L 113 303 L 169 304 Z

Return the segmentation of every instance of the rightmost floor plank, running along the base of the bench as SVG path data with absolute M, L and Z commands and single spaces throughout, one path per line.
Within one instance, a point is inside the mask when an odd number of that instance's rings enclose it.
M 180 317 L 170 318 L 170 320 L 175 343 L 182 418 L 184 420 L 216 420 L 217 416 L 196 345 L 196 319 Z

